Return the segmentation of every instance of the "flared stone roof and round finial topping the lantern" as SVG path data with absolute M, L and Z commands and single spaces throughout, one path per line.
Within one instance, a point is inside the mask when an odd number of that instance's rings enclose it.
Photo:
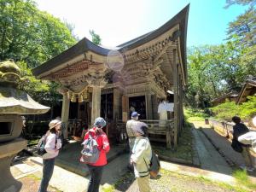
M 48 112 L 49 107 L 35 102 L 25 91 L 17 89 L 20 81 L 20 68 L 14 61 L 0 62 L 0 114 Z

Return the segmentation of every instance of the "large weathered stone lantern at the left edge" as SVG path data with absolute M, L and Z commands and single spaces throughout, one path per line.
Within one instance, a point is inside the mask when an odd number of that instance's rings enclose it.
M 19 137 L 23 127 L 20 115 L 49 111 L 19 90 L 20 82 L 20 68 L 15 62 L 0 62 L 0 191 L 3 192 L 20 191 L 22 185 L 10 172 L 11 160 L 26 148 L 26 140 Z

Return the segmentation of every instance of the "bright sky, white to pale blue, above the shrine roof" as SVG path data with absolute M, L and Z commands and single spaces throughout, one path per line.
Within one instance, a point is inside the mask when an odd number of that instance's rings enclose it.
M 75 26 L 79 38 L 93 29 L 102 45 L 114 47 L 150 32 L 190 3 L 187 45 L 221 44 L 228 23 L 246 7 L 224 9 L 225 0 L 36 0 L 38 8 Z

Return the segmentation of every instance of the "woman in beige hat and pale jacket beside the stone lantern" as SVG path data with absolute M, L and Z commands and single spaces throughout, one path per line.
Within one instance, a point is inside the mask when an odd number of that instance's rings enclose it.
M 61 120 L 54 119 L 49 122 L 49 131 L 46 133 L 44 149 L 46 153 L 43 155 L 43 177 L 38 192 L 46 192 L 49 180 L 52 177 L 55 157 L 59 154 L 61 148 L 61 139 L 59 138 L 61 131 Z

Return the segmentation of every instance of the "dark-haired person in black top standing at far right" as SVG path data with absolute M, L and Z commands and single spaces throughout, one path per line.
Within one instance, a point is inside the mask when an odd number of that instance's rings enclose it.
M 244 125 L 243 123 L 241 123 L 241 118 L 238 116 L 234 116 L 232 118 L 232 121 L 236 124 L 233 126 L 233 131 L 231 131 L 233 133 L 233 139 L 235 139 L 238 142 L 238 137 L 241 137 L 242 135 L 246 134 L 247 132 L 249 132 L 249 129 L 247 128 L 246 125 Z M 241 143 L 242 146 L 242 156 L 245 160 L 246 165 L 241 165 L 240 167 L 242 169 L 247 169 L 247 171 L 249 172 L 253 172 L 253 160 L 251 158 L 251 154 L 248 150 L 247 145 L 244 145 Z

